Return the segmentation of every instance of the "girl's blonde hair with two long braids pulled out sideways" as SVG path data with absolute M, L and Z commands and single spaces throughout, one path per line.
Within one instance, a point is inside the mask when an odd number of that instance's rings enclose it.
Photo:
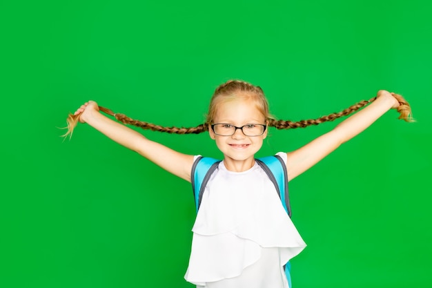
M 411 106 L 408 102 L 399 94 L 391 93 L 393 97 L 397 99 L 400 106 L 397 107 L 397 112 L 400 113 L 399 119 L 403 119 L 406 122 L 413 122 L 413 118 L 411 116 Z M 113 113 L 110 109 L 99 106 L 99 110 L 114 116 L 119 122 L 124 124 L 130 124 L 133 126 L 137 126 L 143 129 L 148 129 L 151 131 L 160 131 L 166 133 L 176 133 L 176 134 L 199 134 L 208 130 L 208 124 L 212 124 L 213 117 L 215 117 L 217 106 L 223 102 L 230 101 L 232 99 L 238 99 L 239 97 L 244 97 L 245 99 L 253 99 L 255 104 L 257 105 L 257 109 L 259 112 L 264 115 L 265 119 L 268 121 L 268 126 L 273 126 L 277 129 L 289 129 L 289 128 L 304 128 L 311 125 L 317 125 L 328 121 L 333 121 L 337 118 L 350 115 L 351 113 L 357 111 L 358 109 L 366 106 L 367 104 L 375 101 L 376 97 L 373 97 L 369 100 L 362 100 L 348 108 L 340 111 L 338 113 L 331 113 L 329 115 L 317 118 L 317 119 L 306 119 L 300 120 L 297 122 L 292 122 L 289 120 L 277 120 L 274 119 L 273 116 L 270 115 L 268 108 L 268 101 L 266 96 L 264 95 L 264 91 L 261 87 L 250 84 L 246 81 L 240 80 L 228 80 L 224 84 L 219 85 L 215 93 L 210 99 L 210 105 L 208 107 L 208 113 L 206 115 L 206 122 L 204 124 L 199 124 L 195 127 L 164 127 L 156 124 L 151 124 L 148 122 L 139 121 L 136 119 L 132 119 L 124 114 Z M 72 115 L 71 113 L 68 115 L 68 119 L 66 122 L 68 126 L 66 127 L 68 130 L 63 137 L 71 137 L 72 132 L 77 126 L 79 121 L 79 115 Z

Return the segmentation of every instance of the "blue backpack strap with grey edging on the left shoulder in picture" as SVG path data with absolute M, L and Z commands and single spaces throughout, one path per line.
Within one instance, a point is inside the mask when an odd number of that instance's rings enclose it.
M 190 182 L 192 183 L 197 211 L 199 205 L 201 205 L 202 195 L 206 188 L 206 184 L 213 171 L 217 169 L 219 162 L 220 160 L 214 158 L 199 156 L 199 158 L 193 163 L 192 171 L 190 172 Z

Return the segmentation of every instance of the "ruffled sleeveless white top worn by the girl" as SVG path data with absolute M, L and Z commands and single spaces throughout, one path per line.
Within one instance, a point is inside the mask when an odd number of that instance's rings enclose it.
M 286 288 L 283 267 L 306 247 L 257 163 L 244 172 L 219 163 L 192 231 L 185 279 L 197 287 Z

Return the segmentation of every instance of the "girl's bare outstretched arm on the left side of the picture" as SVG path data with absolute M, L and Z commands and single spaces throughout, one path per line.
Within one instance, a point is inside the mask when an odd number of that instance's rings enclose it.
M 96 102 L 86 102 L 86 104 L 78 108 L 75 115 L 79 115 L 79 122 L 89 124 L 111 140 L 139 153 L 166 171 L 190 182 L 193 155 L 179 153 L 157 142 L 148 140 L 141 133 L 109 119 L 99 113 Z

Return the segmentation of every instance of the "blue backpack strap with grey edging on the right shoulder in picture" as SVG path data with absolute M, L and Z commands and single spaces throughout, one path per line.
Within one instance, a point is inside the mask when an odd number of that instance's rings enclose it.
M 256 159 L 257 163 L 262 166 L 271 182 L 275 184 L 277 194 L 279 195 L 282 205 L 288 216 L 291 217 L 291 207 L 288 194 L 288 175 L 284 160 L 278 155 L 261 157 Z

